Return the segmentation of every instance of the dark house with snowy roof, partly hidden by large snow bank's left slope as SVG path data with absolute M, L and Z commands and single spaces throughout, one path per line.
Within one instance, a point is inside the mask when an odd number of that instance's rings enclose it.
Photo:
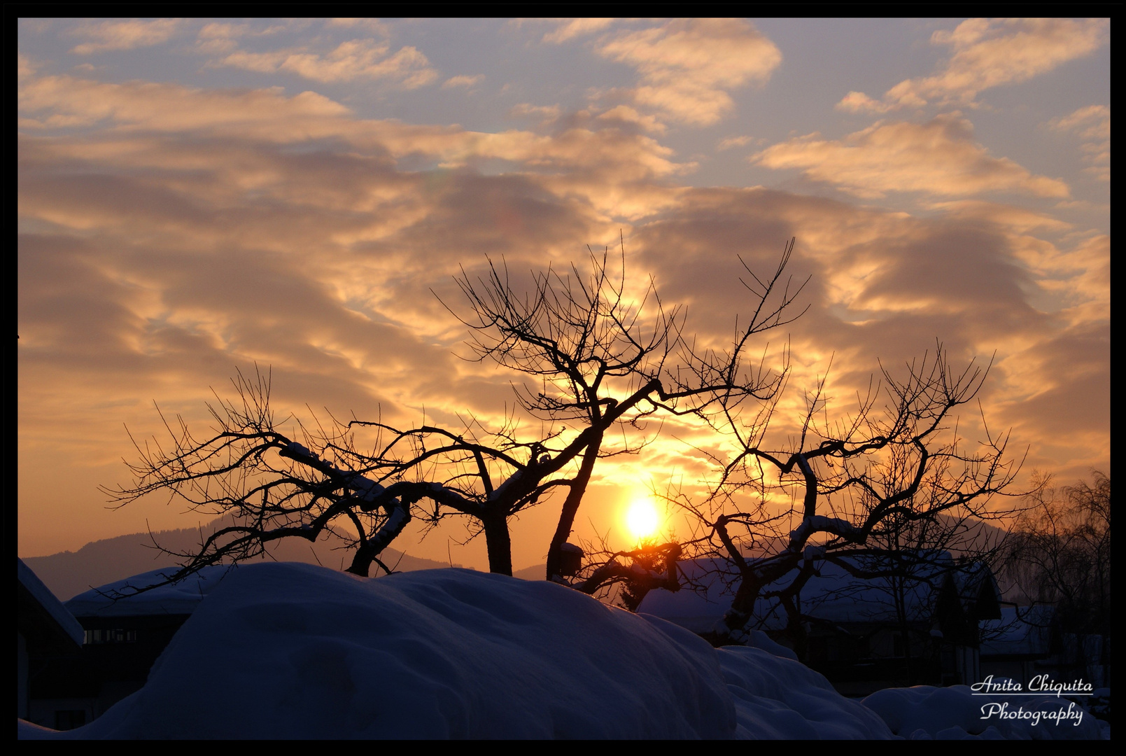
M 208 567 L 176 585 L 110 598 L 122 589 L 159 582 L 169 571 L 153 570 L 88 590 L 60 605 L 77 628 L 75 652 L 29 652 L 33 674 L 26 719 L 53 729 L 71 729 L 138 691 L 176 631 L 229 569 Z

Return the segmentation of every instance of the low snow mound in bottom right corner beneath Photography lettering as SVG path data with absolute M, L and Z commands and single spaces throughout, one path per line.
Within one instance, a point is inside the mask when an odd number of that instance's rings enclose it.
M 876 691 L 864 705 L 909 739 L 1098 740 L 1109 738 L 1100 722 L 1067 699 L 1054 695 L 974 695 L 967 685 L 892 687 Z

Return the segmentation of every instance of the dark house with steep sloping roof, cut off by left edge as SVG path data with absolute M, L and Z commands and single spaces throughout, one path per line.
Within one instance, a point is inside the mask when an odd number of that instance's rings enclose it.
M 23 559 L 18 562 L 18 587 L 16 589 L 16 624 L 19 637 L 16 651 L 17 668 L 17 717 L 29 719 L 28 684 L 39 669 L 39 660 L 44 658 L 77 658 L 82 650 L 82 625 L 55 598 L 43 581 L 36 577 Z M 84 712 L 81 708 L 64 709 L 64 724 L 74 719 L 84 723 Z M 51 727 L 56 722 L 52 720 Z

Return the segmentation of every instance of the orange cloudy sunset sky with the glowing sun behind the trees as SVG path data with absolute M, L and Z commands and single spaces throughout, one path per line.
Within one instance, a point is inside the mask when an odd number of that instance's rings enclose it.
M 995 353 L 982 410 L 1025 477 L 1109 473 L 1109 38 L 1105 19 L 23 19 L 19 555 L 205 522 L 96 487 L 129 482 L 125 426 L 158 432 L 154 401 L 203 432 L 211 389 L 256 364 L 283 413 L 502 419 L 513 375 L 458 358 L 435 293 L 459 304 L 453 276 L 486 256 L 565 267 L 619 234 L 632 279 L 721 346 L 749 314 L 738 256 L 768 272 L 796 238 L 808 311 L 752 349 L 792 350 L 779 432 L 826 371 L 844 411 L 937 339 L 958 365 Z M 976 404 L 959 421 L 974 438 Z M 579 536 L 628 546 L 646 486 L 706 474 L 676 436 L 602 464 Z M 516 569 L 557 516 L 512 524 Z M 394 546 L 484 568 L 464 534 Z

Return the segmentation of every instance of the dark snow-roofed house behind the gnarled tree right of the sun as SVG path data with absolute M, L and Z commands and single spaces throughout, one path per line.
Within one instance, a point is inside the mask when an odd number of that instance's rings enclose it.
M 910 567 L 893 573 L 886 558 L 821 559 L 798 594 L 801 638 L 787 629 L 776 601 L 757 602 L 750 628 L 799 650 L 806 665 L 846 695 L 897 685 L 977 682 L 980 624 L 1000 617 L 992 572 L 983 564 L 959 563 L 948 552 L 911 557 Z M 726 560 L 678 567 L 697 589 L 651 590 L 637 611 L 708 638 L 731 607 L 739 575 Z M 767 589 L 784 588 L 795 577 L 796 571 Z

